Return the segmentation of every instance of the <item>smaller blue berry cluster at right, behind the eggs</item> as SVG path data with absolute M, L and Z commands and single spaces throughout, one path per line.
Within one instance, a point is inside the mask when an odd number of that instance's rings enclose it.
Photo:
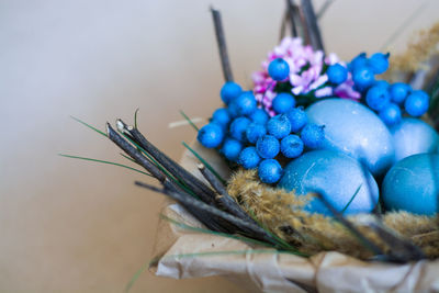
M 387 125 L 394 125 L 403 113 L 418 117 L 429 106 L 429 97 L 425 91 L 413 90 L 410 86 L 396 82 L 390 84 L 385 80 L 375 80 L 389 68 L 389 54 L 375 53 L 370 58 L 361 53 L 349 66 L 354 88 L 363 93 L 365 104 L 375 111 Z

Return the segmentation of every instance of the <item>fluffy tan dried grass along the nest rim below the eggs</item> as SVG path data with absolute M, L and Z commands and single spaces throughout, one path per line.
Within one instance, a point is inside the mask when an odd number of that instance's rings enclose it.
M 263 184 L 257 179 L 255 170 L 238 170 L 230 178 L 227 189 L 239 205 L 262 226 L 304 253 L 336 250 L 360 259 L 373 257 L 370 250 L 333 217 L 303 210 L 313 198 L 312 194 L 299 196 L 294 192 Z M 383 251 L 389 252 L 392 249 L 369 225 L 376 221 L 375 216 L 356 215 L 347 218 Z M 389 212 L 382 215 L 381 221 L 394 234 L 412 240 L 428 258 L 439 257 L 439 216 Z

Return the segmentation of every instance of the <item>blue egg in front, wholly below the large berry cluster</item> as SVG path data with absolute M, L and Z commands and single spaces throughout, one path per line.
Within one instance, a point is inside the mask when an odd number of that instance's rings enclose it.
M 297 194 L 319 192 L 339 212 L 353 198 L 345 214 L 369 213 L 379 199 L 372 174 L 352 157 L 334 150 L 313 150 L 291 161 L 278 187 Z M 331 215 L 318 199 L 306 209 Z

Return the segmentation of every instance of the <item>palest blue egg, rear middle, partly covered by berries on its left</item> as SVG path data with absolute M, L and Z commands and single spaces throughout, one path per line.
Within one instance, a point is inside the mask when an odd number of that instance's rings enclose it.
M 372 174 L 381 176 L 394 161 L 392 135 L 380 117 L 359 102 L 327 99 L 312 104 L 308 121 L 325 125 L 323 149 L 361 159 Z

